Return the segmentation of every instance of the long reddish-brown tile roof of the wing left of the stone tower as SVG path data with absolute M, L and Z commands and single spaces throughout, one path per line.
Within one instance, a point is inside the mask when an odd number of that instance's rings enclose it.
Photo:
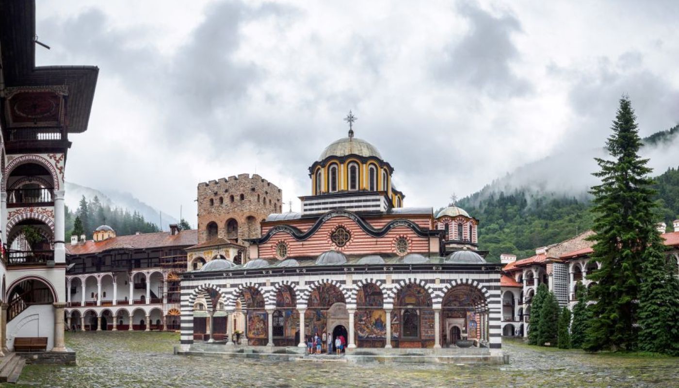
M 149 249 L 163 247 L 187 247 L 198 243 L 198 230 L 182 230 L 172 236 L 170 232 L 130 234 L 104 241 L 86 241 L 84 244 L 67 244 L 69 255 L 87 255 L 111 249 Z

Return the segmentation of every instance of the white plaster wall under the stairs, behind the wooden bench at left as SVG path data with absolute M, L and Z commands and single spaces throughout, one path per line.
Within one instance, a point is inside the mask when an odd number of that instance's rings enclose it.
M 47 350 L 54 347 L 54 307 L 51 304 L 29 306 L 7 322 L 7 347 L 14 349 L 16 337 L 47 337 Z

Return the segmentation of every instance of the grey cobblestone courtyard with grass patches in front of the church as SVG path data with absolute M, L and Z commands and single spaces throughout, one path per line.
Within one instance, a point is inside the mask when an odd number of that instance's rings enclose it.
M 67 333 L 77 366 L 26 366 L 14 387 L 679 387 L 679 359 L 587 355 L 506 341 L 511 364 L 274 362 L 172 354 L 179 335 Z

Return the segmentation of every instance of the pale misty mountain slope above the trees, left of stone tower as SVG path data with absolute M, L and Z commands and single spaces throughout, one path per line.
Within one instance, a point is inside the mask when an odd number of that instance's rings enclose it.
M 141 200 L 135 198 L 128 192 L 120 192 L 117 190 L 97 190 L 88 188 L 87 186 L 81 186 L 77 183 L 66 182 L 65 202 L 71 211 L 77 210 L 80 199 L 83 196 L 85 196 L 88 201 L 94 200 L 94 197 L 96 196 L 99 198 L 99 201 L 102 205 L 108 205 L 112 209 L 123 209 L 129 211 L 130 213 L 134 213 L 136 211 L 136 213 L 142 215 L 147 222 L 151 222 L 156 226 L 159 226 L 160 219 L 162 217 L 162 230 L 164 231 L 170 230 L 170 224 L 179 223 L 175 217 L 172 217 L 167 213 L 161 212 L 158 209 L 141 202 Z

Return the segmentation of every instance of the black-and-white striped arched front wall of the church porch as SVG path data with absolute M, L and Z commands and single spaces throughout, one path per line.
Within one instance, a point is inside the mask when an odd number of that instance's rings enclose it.
M 384 309 L 397 308 L 395 297 L 400 289 L 414 283 L 424 289 L 433 302 L 433 310 L 441 310 L 441 302 L 445 294 L 459 285 L 468 285 L 478 289 L 485 298 L 485 323 L 479 322 L 479 328 L 487 330 L 489 347 L 500 349 L 502 306 L 500 300 L 499 266 L 467 266 L 468 268 L 442 268 L 441 266 L 418 266 L 409 270 L 396 266 L 380 266 L 370 268 L 369 273 L 361 268 L 325 269 L 316 273 L 305 273 L 301 269 L 290 269 L 280 273 L 271 270 L 255 270 L 238 274 L 200 274 L 193 279 L 185 275 L 181 285 L 181 344 L 185 349 L 194 343 L 194 304 L 204 298 L 212 290 L 219 295 L 227 313 L 236 309 L 236 302 L 242 298 L 246 287 L 257 289 L 264 297 L 265 310 L 276 309 L 276 292 L 286 285 L 295 290 L 296 308 L 304 311 L 308 306 L 310 293 L 320 285 L 333 284 L 338 287 L 346 300 L 346 307 L 356 309 L 356 294 L 366 283 L 373 283 L 382 291 Z M 358 272 L 361 270 L 361 272 Z M 211 301 L 213 302 L 213 301 Z

